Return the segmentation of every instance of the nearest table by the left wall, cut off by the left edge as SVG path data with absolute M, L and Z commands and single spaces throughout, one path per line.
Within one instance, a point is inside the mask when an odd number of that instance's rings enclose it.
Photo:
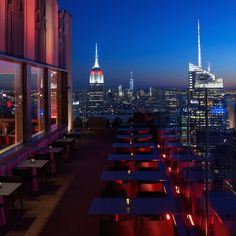
M 4 210 L 4 197 L 9 197 L 22 186 L 21 183 L 2 182 L 0 188 L 0 227 L 6 225 L 6 215 Z M 23 208 L 22 200 L 21 208 Z

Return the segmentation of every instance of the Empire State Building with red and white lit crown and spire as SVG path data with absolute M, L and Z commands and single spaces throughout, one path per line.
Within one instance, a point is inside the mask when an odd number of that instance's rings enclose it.
M 104 75 L 98 63 L 98 48 L 96 44 L 95 64 L 89 76 L 89 113 L 102 114 L 104 104 Z

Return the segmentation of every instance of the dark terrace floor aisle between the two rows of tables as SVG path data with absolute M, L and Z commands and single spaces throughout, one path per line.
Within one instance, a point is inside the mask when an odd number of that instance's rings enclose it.
M 87 212 L 92 198 L 100 194 L 100 175 L 115 134 L 112 129 L 84 130 L 82 147 L 73 151 L 58 176 L 49 178 L 39 197 L 25 199 L 25 213 L 17 216 L 7 236 L 98 235 L 99 218 Z

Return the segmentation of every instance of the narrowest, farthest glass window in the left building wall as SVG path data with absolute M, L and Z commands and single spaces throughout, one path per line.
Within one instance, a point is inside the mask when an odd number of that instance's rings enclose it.
M 58 126 L 58 104 L 59 104 L 59 79 L 58 72 L 49 70 L 49 78 L 51 81 L 51 126 Z

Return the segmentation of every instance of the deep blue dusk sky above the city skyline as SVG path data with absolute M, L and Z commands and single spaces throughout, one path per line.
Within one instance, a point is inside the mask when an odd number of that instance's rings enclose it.
M 185 87 L 197 63 L 197 19 L 203 65 L 236 88 L 235 0 L 59 0 L 73 17 L 73 83 L 86 88 L 95 43 L 105 86 Z

